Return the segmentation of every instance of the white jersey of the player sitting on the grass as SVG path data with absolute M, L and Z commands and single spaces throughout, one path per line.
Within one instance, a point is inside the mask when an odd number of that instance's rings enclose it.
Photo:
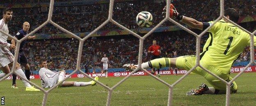
M 50 71 L 49 69 L 43 67 L 39 70 L 39 76 L 43 88 L 51 88 L 52 86 L 58 83 L 58 72 Z

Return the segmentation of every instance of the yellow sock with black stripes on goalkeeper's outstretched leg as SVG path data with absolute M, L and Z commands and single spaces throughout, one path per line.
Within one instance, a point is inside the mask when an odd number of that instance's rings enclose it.
M 163 67 L 170 67 L 171 65 L 171 58 L 158 58 L 148 62 L 150 68 L 163 68 Z

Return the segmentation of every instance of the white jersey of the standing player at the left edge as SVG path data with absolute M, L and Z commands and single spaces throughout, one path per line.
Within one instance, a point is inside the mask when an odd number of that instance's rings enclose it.
M 8 26 L 3 19 L 0 20 L 0 30 L 9 34 Z M 0 33 L 0 46 L 2 46 L 2 47 L 10 46 L 10 44 L 7 43 L 7 38 L 8 38 L 7 35 L 5 35 L 4 33 Z

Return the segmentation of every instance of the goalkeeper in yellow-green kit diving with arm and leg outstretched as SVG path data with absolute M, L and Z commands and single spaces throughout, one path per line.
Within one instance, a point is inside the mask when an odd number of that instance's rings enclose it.
M 166 7 L 165 9 L 166 10 Z M 170 17 L 187 24 L 196 29 L 204 30 L 208 28 L 214 21 L 199 22 L 193 18 L 188 18 L 181 13 L 178 13 L 174 6 L 170 6 Z M 239 15 L 235 9 L 226 9 L 224 15 L 233 22 L 238 22 Z M 250 35 L 240 28 L 222 19 L 217 21 L 208 32 L 209 38 L 203 47 L 203 53 L 200 53 L 200 64 L 210 72 L 229 82 L 230 68 L 233 62 L 240 56 L 245 46 L 250 44 Z M 254 46 L 256 46 L 256 38 L 254 36 Z M 158 58 L 142 63 L 142 68 L 163 68 L 177 67 L 185 70 L 190 70 L 196 65 L 196 56 L 187 55 L 177 58 Z M 135 69 L 137 65 L 125 64 L 124 67 Z M 202 95 L 202 94 L 223 94 L 226 93 L 226 84 L 210 75 L 202 68 L 197 67 L 193 71 L 198 75 L 203 76 L 213 87 L 208 87 L 206 84 L 201 84 L 199 88 L 192 89 L 186 95 Z M 237 92 L 237 84 L 232 82 L 231 93 Z

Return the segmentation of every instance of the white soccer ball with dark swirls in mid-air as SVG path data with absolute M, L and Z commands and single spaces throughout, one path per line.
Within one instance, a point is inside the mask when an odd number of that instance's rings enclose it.
M 147 11 L 142 11 L 138 13 L 136 17 L 136 23 L 139 27 L 147 28 L 153 24 L 153 16 Z

